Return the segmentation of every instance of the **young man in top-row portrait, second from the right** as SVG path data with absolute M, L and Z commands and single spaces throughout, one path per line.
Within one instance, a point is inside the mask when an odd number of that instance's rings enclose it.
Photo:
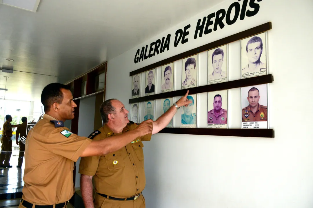
M 222 70 L 224 61 L 224 51 L 221 48 L 217 48 L 212 53 L 212 66 L 213 72 L 209 74 L 208 80 L 215 80 L 226 77 L 227 74 Z

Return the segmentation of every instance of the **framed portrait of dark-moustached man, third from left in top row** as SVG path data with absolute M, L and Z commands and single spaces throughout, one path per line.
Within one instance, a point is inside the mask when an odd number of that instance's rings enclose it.
M 161 93 L 174 89 L 174 62 L 162 66 Z

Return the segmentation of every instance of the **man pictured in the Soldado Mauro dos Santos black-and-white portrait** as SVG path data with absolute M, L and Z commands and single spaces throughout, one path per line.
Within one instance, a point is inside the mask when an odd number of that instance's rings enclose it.
M 247 42 L 246 51 L 248 64 L 242 69 L 242 75 L 266 70 L 266 64 L 260 60 L 263 51 L 263 42 L 260 37 L 252 37 Z

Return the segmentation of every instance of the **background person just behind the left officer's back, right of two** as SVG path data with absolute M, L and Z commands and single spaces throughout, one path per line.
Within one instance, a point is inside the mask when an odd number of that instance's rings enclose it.
M 16 135 L 15 135 L 15 139 L 16 139 L 16 144 L 19 145 L 20 147 L 20 151 L 18 154 L 18 165 L 16 167 L 22 168 L 22 164 L 23 164 L 23 158 L 24 158 L 24 152 L 25 152 L 25 142 L 26 142 L 26 137 L 27 137 L 27 118 L 26 117 L 22 117 L 22 124 L 20 124 L 18 126 L 18 128 L 16 129 Z M 18 142 L 18 136 L 20 136 L 20 140 Z

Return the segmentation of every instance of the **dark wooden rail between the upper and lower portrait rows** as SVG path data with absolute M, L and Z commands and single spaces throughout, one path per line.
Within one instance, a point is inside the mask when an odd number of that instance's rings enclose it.
M 273 81 L 274 81 L 274 76 L 269 74 L 269 75 L 262 75 L 262 76 L 257 76 L 257 77 L 250 77 L 246 79 L 222 82 L 222 83 L 217 83 L 213 85 L 203 85 L 199 87 L 192 87 L 192 88 L 188 88 L 188 90 L 189 90 L 189 94 L 198 94 L 198 93 L 203 93 L 203 92 L 213 92 L 213 91 L 224 90 L 224 89 L 233 89 L 233 88 L 248 87 L 248 86 L 253 86 L 253 85 L 262 85 L 262 84 L 272 83 Z M 175 90 L 172 92 L 159 93 L 159 94 L 153 94 L 149 96 L 129 99 L 128 103 L 129 104 L 139 103 L 139 102 L 148 101 L 148 100 L 183 96 L 186 94 L 186 92 L 187 92 L 187 89 L 179 89 L 179 90 Z

